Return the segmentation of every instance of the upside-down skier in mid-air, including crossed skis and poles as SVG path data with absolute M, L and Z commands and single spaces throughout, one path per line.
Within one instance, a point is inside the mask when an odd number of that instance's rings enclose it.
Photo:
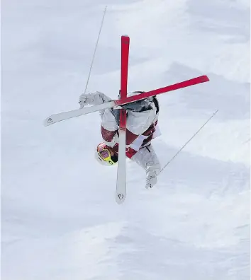
M 130 38 L 122 35 L 119 99 L 111 100 L 107 95 L 98 91 L 86 93 L 91 74 L 90 68 L 85 91 L 79 97 L 80 109 L 50 115 L 44 122 L 45 126 L 48 126 L 72 117 L 100 112 L 103 142 L 96 146 L 95 158 L 99 163 L 107 166 L 116 165 L 118 162 L 116 182 L 116 202 L 118 204 L 123 203 L 126 196 L 126 156 L 145 169 L 145 187 L 147 189 L 157 183 L 157 175 L 161 172 L 160 161 L 151 143 L 152 139 L 160 135 L 157 126 L 160 107 L 156 95 L 209 81 L 208 76 L 203 75 L 152 91 L 128 93 L 129 45 Z M 86 105 L 92 106 L 85 107 Z

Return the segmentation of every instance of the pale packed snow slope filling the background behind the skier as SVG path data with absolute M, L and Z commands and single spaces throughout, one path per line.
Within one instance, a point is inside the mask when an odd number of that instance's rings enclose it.
M 163 166 L 219 110 L 154 189 L 128 161 L 121 206 L 99 114 L 43 127 L 79 107 L 106 5 L 89 91 L 118 95 L 123 34 L 129 91 L 211 79 L 160 96 Z M 1 279 L 250 279 L 249 5 L 2 1 Z

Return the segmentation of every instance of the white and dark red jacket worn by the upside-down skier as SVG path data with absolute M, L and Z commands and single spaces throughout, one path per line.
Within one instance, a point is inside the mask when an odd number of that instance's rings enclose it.
M 96 93 L 83 93 L 80 95 L 79 104 L 81 106 L 85 104 L 99 105 L 110 100 L 111 98 L 104 93 L 97 91 Z M 159 107 L 156 101 L 156 105 L 155 103 L 152 104 L 152 110 L 145 110 L 143 112 L 128 110 L 126 120 L 126 156 L 145 169 L 146 185 L 149 184 L 149 180 L 152 180 L 152 176 L 159 174 L 161 170 L 160 161 L 154 148 L 150 145 L 151 140 L 160 135 L 157 125 L 158 111 Z M 118 153 L 118 123 L 116 122 L 116 114 L 111 109 L 100 110 L 99 114 L 102 119 L 101 134 L 104 142 L 113 148 L 114 153 Z

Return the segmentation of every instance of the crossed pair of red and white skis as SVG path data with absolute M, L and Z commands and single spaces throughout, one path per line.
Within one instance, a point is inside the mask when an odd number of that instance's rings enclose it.
M 84 107 L 78 110 L 72 110 L 68 112 L 61 112 L 59 114 L 51 115 L 45 119 L 44 125 L 48 126 L 61 122 L 65 119 L 71 119 L 72 117 L 79 117 L 81 115 L 87 115 L 91 112 L 104 110 L 106 108 L 118 107 L 121 108 L 120 114 L 120 126 L 119 126 L 119 150 L 118 150 L 118 171 L 117 171 L 117 185 L 116 185 L 116 202 L 121 204 L 125 200 L 126 196 L 126 167 L 125 167 L 125 140 L 126 140 L 126 111 L 121 107 L 127 103 L 132 103 L 151 96 L 167 93 L 169 91 L 175 91 L 180 88 L 186 88 L 188 86 L 194 86 L 198 83 L 204 83 L 209 81 L 208 76 L 203 75 L 196 78 L 191 78 L 180 83 L 174 83 L 171 86 L 164 88 L 157 88 L 153 91 L 141 93 L 140 95 L 133 95 L 127 97 L 127 85 L 128 85 L 128 59 L 129 59 L 129 45 L 130 37 L 127 35 L 121 36 L 121 99 L 111 100 L 108 103 L 100 105 L 93 105 L 90 107 Z

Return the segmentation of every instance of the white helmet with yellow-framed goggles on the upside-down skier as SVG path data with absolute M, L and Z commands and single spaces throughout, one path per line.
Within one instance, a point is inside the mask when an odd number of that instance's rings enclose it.
M 111 156 L 110 148 L 105 143 L 101 143 L 96 147 L 95 158 L 101 165 L 106 166 L 116 165 L 118 162 L 118 156 Z

